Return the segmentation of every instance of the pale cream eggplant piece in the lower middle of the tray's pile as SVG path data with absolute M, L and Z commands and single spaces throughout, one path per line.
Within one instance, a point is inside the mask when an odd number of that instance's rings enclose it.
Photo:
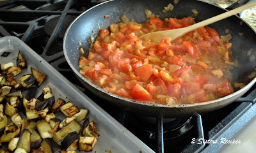
M 46 122 L 45 119 L 38 120 L 36 122 L 36 128 L 38 130 L 38 133 L 40 134 L 41 138 L 52 138 L 53 137 L 53 131 L 51 126 Z

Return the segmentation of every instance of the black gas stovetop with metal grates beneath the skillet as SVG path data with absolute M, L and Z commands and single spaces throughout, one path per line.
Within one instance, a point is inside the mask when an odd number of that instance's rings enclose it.
M 106 112 L 155 152 L 217 152 L 256 115 L 256 85 L 231 105 L 204 115 L 156 119 L 114 108 L 86 91 L 72 73 L 62 50 L 68 25 L 102 1 L 12 0 L 0 2 L 0 37 L 17 36 Z M 227 141 L 225 141 L 227 140 Z M 229 141 L 228 141 L 229 140 Z

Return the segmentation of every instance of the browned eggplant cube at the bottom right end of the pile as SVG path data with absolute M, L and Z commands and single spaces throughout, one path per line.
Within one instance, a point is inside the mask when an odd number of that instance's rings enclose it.
M 79 137 L 79 150 L 90 152 L 92 151 L 94 145 L 97 143 L 97 139 L 95 137 L 90 136 L 80 136 Z

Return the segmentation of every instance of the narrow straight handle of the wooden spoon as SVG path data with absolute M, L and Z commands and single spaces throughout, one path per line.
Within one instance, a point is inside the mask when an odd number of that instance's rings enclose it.
M 241 11 L 244 11 L 248 8 L 252 8 L 253 6 L 256 6 L 256 1 L 252 2 L 252 3 L 249 3 L 249 4 L 245 4 L 244 6 L 236 8 L 234 10 L 227 11 L 227 12 L 222 13 L 220 15 L 217 15 L 215 17 L 208 18 L 207 20 L 204 20 L 202 22 L 198 22 L 197 24 L 190 25 L 188 28 L 184 29 L 185 30 L 184 33 L 193 31 L 193 30 L 198 29 L 200 27 L 204 27 L 205 25 L 212 24 L 214 22 L 217 22 L 217 21 L 222 20 L 224 18 L 230 17 L 232 15 L 236 15 L 237 13 L 240 13 Z

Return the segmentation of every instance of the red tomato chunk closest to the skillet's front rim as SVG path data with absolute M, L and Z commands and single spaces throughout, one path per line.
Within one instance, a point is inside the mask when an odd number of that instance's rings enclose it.
M 152 96 L 140 84 L 136 84 L 130 95 L 133 99 L 152 99 Z

